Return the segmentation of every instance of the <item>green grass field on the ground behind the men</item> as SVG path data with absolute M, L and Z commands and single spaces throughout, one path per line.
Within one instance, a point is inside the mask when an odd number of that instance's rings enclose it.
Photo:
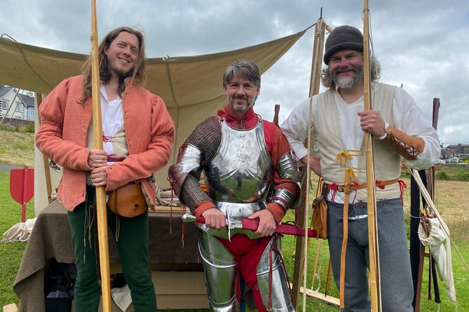
M 8 142 L 8 144 L 6 144 Z M 11 143 L 13 142 L 13 143 Z M 0 163 L 8 163 L 11 165 L 34 165 L 32 157 L 31 144 L 34 142 L 31 133 L 9 133 L 0 130 Z M 24 144 L 24 145 L 23 145 Z M 7 146 L 11 146 L 14 152 L 8 151 Z M 444 173 L 443 173 L 444 172 Z M 437 205 L 440 215 L 448 224 L 451 231 L 451 239 L 453 244 L 452 259 L 454 271 L 454 285 L 456 287 L 457 302 L 449 301 L 447 298 L 446 284 L 439 281 L 441 304 L 434 301 L 435 295 L 428 292 L 428 259 L 423 273 L 421 306 L 420 311 L 469 311 L 469 214 L 465 213 L 468 206 L 469 198 L 469 169 L 467 166 L 459 168 L 446 167 L 437 172 L 437 183 L 435 188 L 435 204 Z M 402 178 L 409 185 L 409 175 L 403 173 Z M 459 180 L 459 181 L 455 181 Z M 462 181 L 461 181 L 462 180 Z M 0 231 L 4 233 L 11 226 L 21 221 L 21 205 L 13 201 L 9 193 L 9 173 L 0 172 Z M 314 186 L 311 188 L 315 191 Z M 33 198 L 34 200 L 34 198 Z M 27 218 L 34 217 L 34 202 L 27 204 Z M 405 215 L 406 222 L 409 224 L 409 188 L 404 192 Z M 293 220 L 292 211 L 284 220 Z M 292 276 L 294 258 L 295 258 L 295 238 L 293 236 L 285 236 L 283 238 L 283 254 L 287 271 Z M 22 254 L 25 251 L 27 243 L 0 243 L 0 307 L 15 303 L 18 304 L 18 297 L 13 292 L 13 283 L 20 266 Z M 316 255 L 318 258 L 316 259 Z M 313 268 L 315 262 L 318 263 L 313 278 Z M 325 292 L 327 283 L 327 264 L 328 246 L 327 240 L 311 240 L 308 247 L 307 270 L 306 270 L 306 287 L 308 289 Z M 314 282 L 314 283 L 313 283 Z M 34 291 L 34 290 L 32 290 Z M 331 281 L 328 295 L 339 297 L 337 287 Z M 312 297 L 300 298 L 300 306 L 298 311 L 303 311 L 303 304 L 306 304 L 305 311 L 339 311 L 337 306 L 326 304 L 320 299 Z M 170 312 L 206 312 L 208 310 L 172 310 Z

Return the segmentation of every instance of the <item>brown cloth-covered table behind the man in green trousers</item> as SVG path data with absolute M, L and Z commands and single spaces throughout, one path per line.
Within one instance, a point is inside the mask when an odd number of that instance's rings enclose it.
M 182 226 L 181 212 L 149 212 L 149 262 L 154 271 L 202 271 L 198 255 L 198 232 L 193 224 Z M 184 231 L 184 240 L 182 233 Z M 109 233 L 109 263 L 118 270 L 118 252 Z M 38 215 L 13 290 L 20 299 L 18 311 L 45 311 L 44 277 L 50 260 L 73 264 L 74 250 L 67 210 L 58 201 Z

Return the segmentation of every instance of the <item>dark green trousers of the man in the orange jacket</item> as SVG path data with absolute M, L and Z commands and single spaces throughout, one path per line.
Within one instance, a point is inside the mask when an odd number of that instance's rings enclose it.
M 86 203 L 67 213 L 76 259 L 75 312 L 97 312 L 100 304 L 101 288 L 97 276 L 100 264 L 95 254 L 97 224 L 95 208 L 89 204 L 93 203 L 89 200 L 91 196 L 94 196 L 94 190 L 88 191 Z M 149 269 L 148 212 L 125 218 L 108 209 L 107 224 L 114 237 L 117 236 L 119 259 L 135 312 L 156 312 L 156 295 Z

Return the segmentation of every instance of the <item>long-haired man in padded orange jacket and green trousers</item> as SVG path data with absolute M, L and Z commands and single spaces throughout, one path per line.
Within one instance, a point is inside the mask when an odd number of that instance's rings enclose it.
M 161 97 L 144 89 L 144 47 L 140 29 L 119 27 L 104 36 L 98 48 L 101 87 L 93 91 L 101 95 L 103 150 L 93 147 L 90 59 L 83 65 L 83 75 L 64 79 L 39 107 L 36 146 L 63 167 L 57 198 L 68 210 L 72 231 L 76 312 L 97 312 L 100 304 L 95 187 L 104 186 L 111 198 L 110 194 L 121 194 L 124 186 L 135 183 L 143 209 L 124 216 L 125 207 L 116 201 L 116 210 L 107 209 L 108 224 L 135 311 L 157 311 L 149 269 L 147 207 L 154 208 L 154 172 L 168 162 L 175 130 Z

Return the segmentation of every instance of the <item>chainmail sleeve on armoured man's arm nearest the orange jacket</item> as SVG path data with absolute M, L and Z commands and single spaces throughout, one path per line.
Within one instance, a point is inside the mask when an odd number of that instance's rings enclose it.
M 208 194 L 200 187 L 200 173 L 205 163 L 210 162 L 213 156 L 215 156 L 221 141 L 222 131 L 219 119 L 217 117 L 210 117 L 200 123 L 184 143 L 193 145 L 199 149 L 202 154 L 200 167 L 189 172 L 189 175 L 187 175 L 182 184 L 181 194 L 179 194 L 179 199 L 182 203 L 185 203 L 191 211 L 193 211 L 201 201 L 211 201 Z

